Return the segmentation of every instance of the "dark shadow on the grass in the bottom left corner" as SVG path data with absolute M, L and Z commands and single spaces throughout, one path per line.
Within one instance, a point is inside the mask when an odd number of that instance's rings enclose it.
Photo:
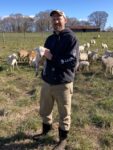
M 11 137 L 0 137 L 0 150 L 43 150 L 46 146 L 54 147 L 55 144 L 56 141 L 51 136 L 39 141 L 33 141 L 32 135 L 26 135 L 22 132 Z

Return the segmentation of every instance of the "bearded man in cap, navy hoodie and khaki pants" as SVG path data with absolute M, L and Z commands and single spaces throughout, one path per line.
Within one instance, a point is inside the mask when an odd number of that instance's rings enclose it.
M 71 124 L 71 98 L 73 81 L 79 60 L 78 40 L 75 34 L 65 28 L 67 23 L 64 12 L 53 10 L 50 13 L 54 33 L 46 42 L 46 62 L 42 71 L 44 81 L 40 96 L 40 115 L 42 133 L 34 140 L 47 135 L 52 127 L 52 110 L 56 101 L 59 112 L 59 142 L 54 150 L 63 150 Z

